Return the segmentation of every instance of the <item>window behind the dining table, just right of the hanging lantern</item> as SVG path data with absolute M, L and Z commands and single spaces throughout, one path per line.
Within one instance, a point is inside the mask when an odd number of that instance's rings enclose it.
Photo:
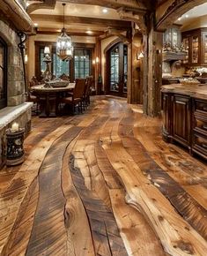
M 89 49 L 74 50 L 75 79 L 84 79 L 90 75 L 90 55 Z

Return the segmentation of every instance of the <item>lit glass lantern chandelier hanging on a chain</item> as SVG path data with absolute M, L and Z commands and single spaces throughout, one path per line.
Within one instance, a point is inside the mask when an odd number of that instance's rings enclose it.
M 73 56 L 73 46 L 71 38 L 66 34 L 66 29 L 64 28 L 64 6 L 65 4 L 63 4 L 63 29 L 56 41 L 56 55 L 63 61 L 67 61 Z

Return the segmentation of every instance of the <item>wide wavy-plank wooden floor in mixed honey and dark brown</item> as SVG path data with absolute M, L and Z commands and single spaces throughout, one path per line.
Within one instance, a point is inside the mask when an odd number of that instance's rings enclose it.
M 161 120 L 97 97 L 33 118 L 26 161 L 0 171 L 0 255 L 207 255 L 206 163 Z

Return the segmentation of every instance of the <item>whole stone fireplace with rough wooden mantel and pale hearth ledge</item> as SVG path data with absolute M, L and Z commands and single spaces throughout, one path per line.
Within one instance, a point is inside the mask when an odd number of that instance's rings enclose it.
M 28 19 L 29 30 L 32 21 L 27 15 L 24 4 L 19 1 L 10 1 L 11 6 L 4 8 L 1 3 L 0 10 L 0 168 L 5 161 L 6 143 L 5 131 L 13 122 L 25 128 L 26 134 L 30 131 L 32 103 L 26 102 L 25 79 L 23 61 L 18 48 L 20 42 L 18 31 L 26 31 L 20 22 Z M 6 11 L 6 15 L 4 13 Z M 3 13 L 1 13 L 3 12 Z M 4 14 L 4 15 L 2 15 Z

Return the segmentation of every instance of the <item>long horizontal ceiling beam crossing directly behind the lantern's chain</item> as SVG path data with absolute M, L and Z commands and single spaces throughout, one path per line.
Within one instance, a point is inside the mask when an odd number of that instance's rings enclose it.
M 33 22 L 59 22 L 63 23 L 62 15 L 41 15 L 41 14 L 31 14 L 30 17 Z M 117 28 L 129 28 L 131 23 L 125 20 L 115 20 L 115 19 L 97 19 L 97 18 L 87 18 L 87 17 L 76 17 L 76 16 L 65 16 L 65 24 L 80 24 L 80 25 L 91 25 L 100 27 L 117 27 Z

